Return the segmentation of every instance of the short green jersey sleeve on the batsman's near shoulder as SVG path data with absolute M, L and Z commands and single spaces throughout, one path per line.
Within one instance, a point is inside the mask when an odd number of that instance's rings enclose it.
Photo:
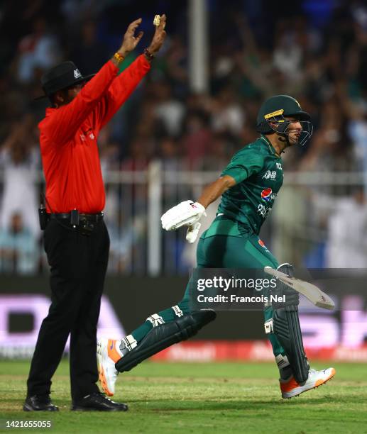
M 236 184 L 251 175 L 261 171 L 264 165 L 264 157 L 256 149 L 248 148 L 234 155 L 229 165 L 221 172 L 221 176 L 229 175 L 234 178 Z

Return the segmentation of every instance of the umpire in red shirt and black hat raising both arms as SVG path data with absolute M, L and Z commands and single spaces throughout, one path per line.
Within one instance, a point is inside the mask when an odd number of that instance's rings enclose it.
M 128 408 L 106 398 L 96 384 L 97 321 L 109 257 L 97 137 L 149 71 L 150 61 L 163 45 L 164 15 L 144 54 L 118 75 L 120 63 L 143 36 L 143 32 L 135 35 L 140 23 L 141 18 L 128 26 L 121 48 L 97 74 L 83 77 L 74 63 L 64 62 L 41 79 L 52 104 L 39 124 L 52 303 L 38 334 L 24 411 L 58 410 L 50 399 L 51 378 L 69 335 L 72 410 Z

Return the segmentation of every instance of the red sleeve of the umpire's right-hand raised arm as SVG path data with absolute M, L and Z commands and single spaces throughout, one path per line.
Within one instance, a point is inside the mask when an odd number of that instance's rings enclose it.
M 150 63 L 144 55 L 140 55 L 111 82 L 101 104 L 98 106 L 99 128 L 109 122 L 111 117 L 136 89 L 149 69 Z

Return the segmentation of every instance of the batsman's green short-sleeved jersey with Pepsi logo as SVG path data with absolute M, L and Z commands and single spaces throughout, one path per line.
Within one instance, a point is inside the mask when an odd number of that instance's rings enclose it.
M 224 175 L 236 185 L 221 196 L 218 213 L 249 224 L 258 234 L 283 184 L 282 159 L 261 135 L 232 157 Z

